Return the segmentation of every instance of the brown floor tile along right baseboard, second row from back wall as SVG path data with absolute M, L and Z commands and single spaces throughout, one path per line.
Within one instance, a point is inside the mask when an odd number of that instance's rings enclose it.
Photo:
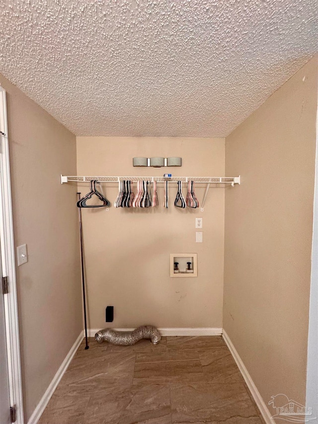
M 208 382 L 244 383 L 239 368 L 227 347 L 198 351 L 203 374 Z

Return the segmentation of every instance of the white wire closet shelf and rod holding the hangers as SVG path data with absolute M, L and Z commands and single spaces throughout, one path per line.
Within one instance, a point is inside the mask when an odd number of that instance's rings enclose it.
M 188 182 L 194 181 L 195 183 L 208 183 L 208 184 L 240 184 L 240 176 L 173 176 L 173 177 L 163 177 L 163 176 L 83 176 L 83 175 L 61 175 L 61 184 L 69 181 L 75 182 L 90 182 L 91 180 L 96 180 L 98 182 L 118 182 L 122 180 L 131 180 L 131 181 L 157 181 L 157 182 Z M 209 185 L 210 186 L 210 185 Z

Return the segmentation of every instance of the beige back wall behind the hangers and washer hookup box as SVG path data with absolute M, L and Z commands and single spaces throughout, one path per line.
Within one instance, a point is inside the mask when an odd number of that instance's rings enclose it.
M 78 137 L 79 175 L 224 175 L 224 139 Z M 181 168 L 134 168 L 133 157 L 180 156 Z M 222 327 L 224 188 L 211 188 L 204 212 L 174 207 L 170 184 L 164 209 L 82 210 L 89 327 Z M 118 184 L 104 185 L 113 203 Z M 86 193 L 88 186 L 81 185 Z M 186 194 L 186 187 L 183 190 Z M 196 186 L 199 201 L 204 188 Z M 203 217 L 203 243 L 195 243 Z M 170 278 L 170 253 L 197 253 L 197 278 Z M 105 307 L 114 305 L 114 322 Z

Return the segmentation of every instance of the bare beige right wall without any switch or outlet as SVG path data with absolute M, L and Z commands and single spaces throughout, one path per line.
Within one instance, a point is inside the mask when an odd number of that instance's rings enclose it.
M 305 402 L 316 111 L 317 57 L 226 139 L 224 328 L 266 404 Z

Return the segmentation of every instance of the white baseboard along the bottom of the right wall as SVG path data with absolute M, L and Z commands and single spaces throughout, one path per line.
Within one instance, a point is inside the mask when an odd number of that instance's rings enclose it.
M 272 419 L 271 414 L 265 404 L 265 402 L 263 401 L 263 398 L 261 397 L 259 391 L 257 390 L 251 376 L 249 375 L 245 365 L 243 364 L 243 361 L 241 360 L 241 358 L 239 357 L 239 353 L 236 350 L 236 348 L 234 347 L 231 339 L 229 338 L 229 336 L 227 335 L 227 332 L 223 329 L 223 339 L 226 342 L 230 352 L 232 353 L 232 356 L 234 357 L 234 360 L 236 361 L 239 370 L 245 380 L 245 383 L 247 384 L 247 387 L 249 388 L 254 401 L 256 402 L 256 405 L 258 406 L 258 409 L 260 411 L 260 413 L 262 414 L 262 417 L 265 421 L 266 424 L 275 424 L 275 421 Z

